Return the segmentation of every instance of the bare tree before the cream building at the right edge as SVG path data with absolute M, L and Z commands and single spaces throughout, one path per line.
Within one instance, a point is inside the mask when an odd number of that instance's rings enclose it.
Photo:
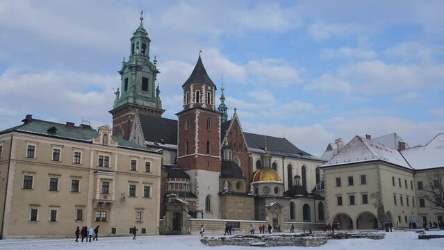
M 444 211 L 444 171 L 427 174 L 427 183 L 421 192 L 422 198 L 431 203 L 431 210 Z

